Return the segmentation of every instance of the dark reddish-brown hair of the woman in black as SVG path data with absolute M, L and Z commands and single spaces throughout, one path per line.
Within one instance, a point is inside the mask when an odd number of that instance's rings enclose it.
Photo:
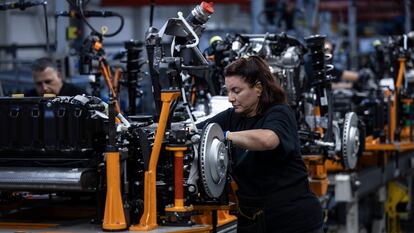
M 260 82 L 263 87 L 262 95 L 259 99 L 257 113 L 261 114 L 273 104 L 286 103 L 286 93 L 277 84 L 270 72 L 269 65 L 265 60 L 258 56 L 240 58 L 224 69 L 224 76 L 240 76 L 244 82 L 253 87 Z

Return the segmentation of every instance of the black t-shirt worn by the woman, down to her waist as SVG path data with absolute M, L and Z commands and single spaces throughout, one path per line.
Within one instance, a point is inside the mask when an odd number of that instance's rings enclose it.
M 233 178 L 239 193 L 246 196 L 266 196 L 307 179 L 306 167 L 300 155 L 295 116 L 288 105 L 274 105 L 264 114 L 251 118 L 227 109 L 203 122 L 218 123 L 223 131 L 270 129 L 280 145 L 270 151 L 249 151 L 233 147 Z

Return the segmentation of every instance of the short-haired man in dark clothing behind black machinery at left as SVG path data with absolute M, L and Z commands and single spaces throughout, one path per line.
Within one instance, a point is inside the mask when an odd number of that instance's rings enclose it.
M 32 65 L 32 76 L 35 88 L 27 91 L 25 96 L 75 96 L 87 94 L 85 90 L 62 80 L 56 64 L 50 58 L 39 58 Z

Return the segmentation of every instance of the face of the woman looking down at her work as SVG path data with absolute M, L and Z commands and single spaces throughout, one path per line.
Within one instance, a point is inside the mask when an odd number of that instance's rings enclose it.
M 225 83 L 229 102 L 233 105 L 234 111 L 247 117 L 255 116 L 262 93 L 261 83 L 257 82 L 250 87 L 238 75 L 226 77 Z

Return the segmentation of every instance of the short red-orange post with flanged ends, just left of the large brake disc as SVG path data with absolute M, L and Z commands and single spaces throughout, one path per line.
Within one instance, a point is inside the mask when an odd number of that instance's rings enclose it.
M 193 206 L 184 206 L 184 185 L 183 185 L 183 160 L 184 151 L 187 147 L 167 146 L 167 151 L 174 151 L 174 206 L 166 207 L 167 212 L 187 212 L 192 211 Z

